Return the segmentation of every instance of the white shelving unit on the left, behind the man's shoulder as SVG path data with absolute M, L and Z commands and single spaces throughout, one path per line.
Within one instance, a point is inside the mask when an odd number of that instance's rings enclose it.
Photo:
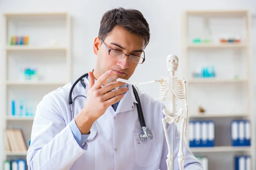
M 29 36 L 28 45 L 11 45 L 10 37 Z M 19 128 L 29 145 L 33 116 L 20 116 L 19 101 L 33 108 L 44 95 L 71 81 L 71 18 L 66 12 L 5 13 L 3 14 L 3 108 L 2 131 Z M 39 79 L 20 78 L 20 68 L 37 68 Z M 19 68 L 19 69 L 17 69 Z M 16 116 L 12 115 L 11 101 L 15 99 Z M 4 133 L 3 133 L 4 137 Z M 27 152 L 6 151 L 4 160 L 25 159 Z

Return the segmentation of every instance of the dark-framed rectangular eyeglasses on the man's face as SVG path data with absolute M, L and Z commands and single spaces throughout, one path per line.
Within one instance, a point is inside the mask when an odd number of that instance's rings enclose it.
M 127 55 L 129 57 L 129 61 L 131 61 L 131 62 L 142 64 L 145 61 L 145 52 L 144 52 L 144 50 L 143 50 L 143 57 L 140 57 L 140 56 L 137 56 L 137 55 L 128 55 L 128 54 L 122 53 L 121 51 L 116 51 L 116 50 L 109 49 L 101 38 L 100 38 L 100 40 L 102 41 L 102 43 L 107 48 L 108 55 L 110 55 L 111 57 L 123 59 Z

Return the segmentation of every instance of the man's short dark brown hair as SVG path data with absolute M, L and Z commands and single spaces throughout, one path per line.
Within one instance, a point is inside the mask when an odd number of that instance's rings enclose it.
M 140 11 L 114 8 L 105 12 L 100 22 L 99 38 L 104 41 L 115 26 L 121 26 L 133 34 L 141 35 L 145 39 L 145 47 L 148 45 L 149 25 Z

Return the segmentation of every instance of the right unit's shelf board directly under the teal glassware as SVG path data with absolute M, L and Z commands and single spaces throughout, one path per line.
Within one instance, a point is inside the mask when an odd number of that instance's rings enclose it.
M 219 83 L 219 82 L 248 82 L 248 79 L 218 79 L 218 78 L 193 78 L 188 79 L 186 82 L 189 83 L 202 83 L 202 82 L 212 82 L 212 83 Z

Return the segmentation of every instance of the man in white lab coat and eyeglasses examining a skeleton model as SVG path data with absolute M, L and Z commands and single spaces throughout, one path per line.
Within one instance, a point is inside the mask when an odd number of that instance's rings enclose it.
M 148 23 L 140 11 L 116 8 L 103 15 L 93 43 L 95 68 L 82 80 L 86 87 L 79 82 L 73 89 L 74 115 L 69 92 L 75 81 L 44 96 L 37 107 L 27 154 L 29 169 L 167 170 L 161 121 L 165 106 L 136 88 L 146 126 L 153 133 L 153 139 L 142 141 L 138 100 L 131 85 L 116 82 L 129 79 L 144 62 L 149 38 Z M 180 134 L 174 128 L 177 170 Z M 172 126 L 168 133 L 172 138 Z M 185 170 L 203 169 L 185 143 L 183 152 Z

